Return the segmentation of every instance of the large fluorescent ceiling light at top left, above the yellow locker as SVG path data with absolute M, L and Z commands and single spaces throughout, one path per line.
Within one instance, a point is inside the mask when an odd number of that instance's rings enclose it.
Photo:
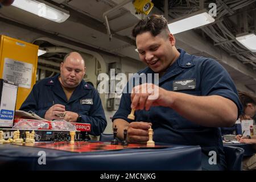
M 64 22 L 69 17 L 68 13 L 35 0 L 15 0 L 12 5 L 58 23 Z

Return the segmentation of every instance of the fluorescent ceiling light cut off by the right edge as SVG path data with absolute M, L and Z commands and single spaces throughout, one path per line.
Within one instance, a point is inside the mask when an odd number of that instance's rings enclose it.
M 251 34 L 240 34 L 236 37 L 237 41 L 243 46 L 249 49 L 251 52 L 256 52 L 256 35 Z

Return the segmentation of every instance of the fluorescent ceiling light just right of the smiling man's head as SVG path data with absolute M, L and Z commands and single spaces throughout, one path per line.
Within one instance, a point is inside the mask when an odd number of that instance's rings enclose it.
M 189 14 L 188 16 L 181 17 L 168 24 L 168 28 L 172 34 L 184 32 L 196 27 L 204 26 L 215 21 L 206 10 L 200 10 L 195 13 Z

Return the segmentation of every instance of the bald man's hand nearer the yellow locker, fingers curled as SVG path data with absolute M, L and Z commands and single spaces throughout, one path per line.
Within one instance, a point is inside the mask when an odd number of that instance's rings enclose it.
M 44 118 L 47 120 L 52 120 L 52 119 L 61 119 L 60 115 L 64 115 L 65 112 L 65 106 L 61 104 L 55 104 L 51 106 L 47 111 L 46 114 L 44 115 Z

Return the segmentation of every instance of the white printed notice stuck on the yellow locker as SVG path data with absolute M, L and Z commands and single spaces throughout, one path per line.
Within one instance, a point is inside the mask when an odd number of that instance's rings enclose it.
M 19 87 L 31 88 L 33 65 L 22 61 L 5 58 L 3 79 L 19 84 Z

